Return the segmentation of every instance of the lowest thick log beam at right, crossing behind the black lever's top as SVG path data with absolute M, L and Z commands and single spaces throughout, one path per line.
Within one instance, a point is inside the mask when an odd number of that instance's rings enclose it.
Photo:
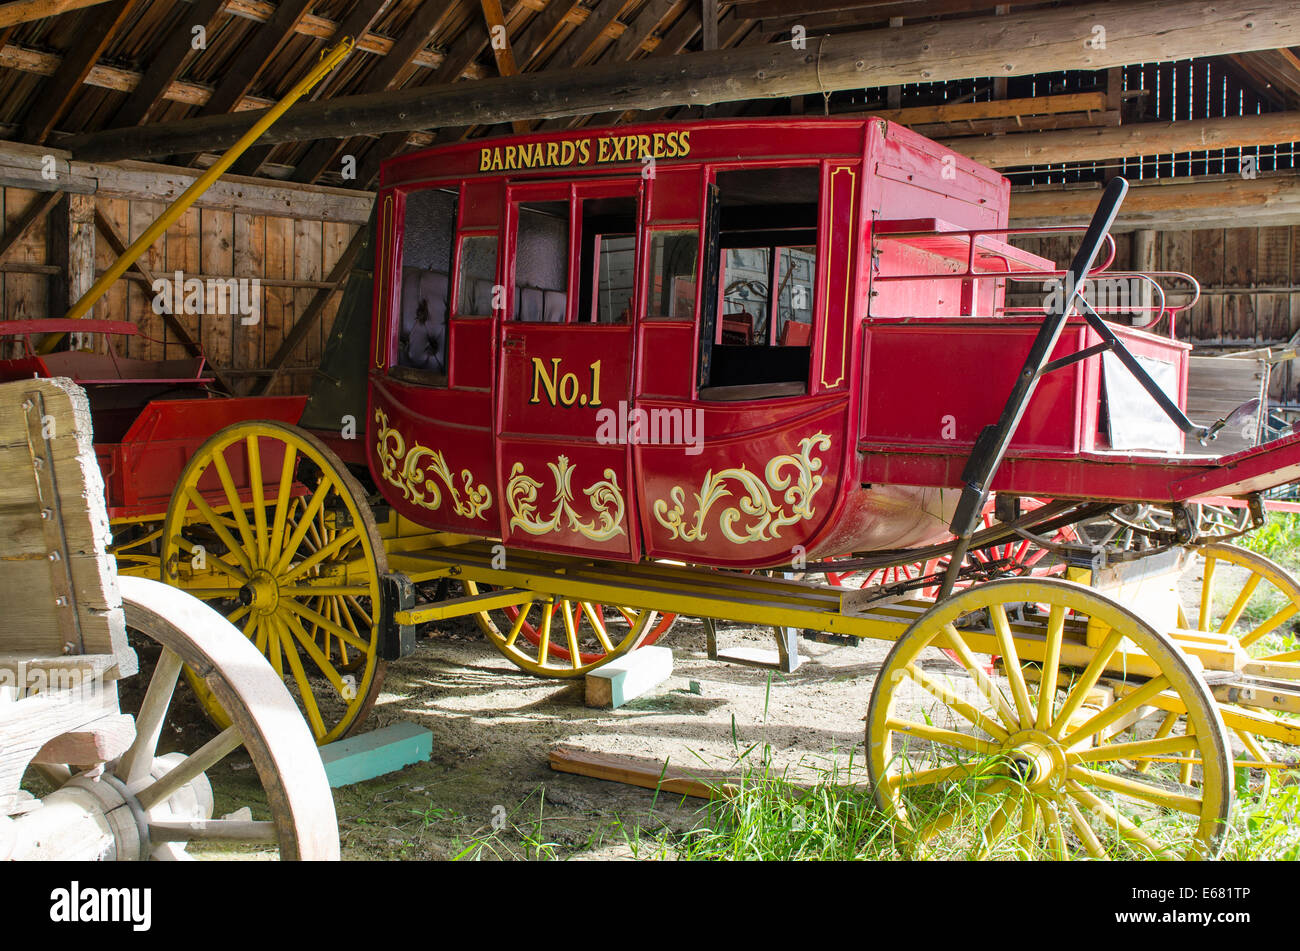
M 1011 227 L 1084 225 L 1101 186 L 1035 186 L 1011 191 Z M 1208 175 L 1132 182 L 1114 230 L 1197 230 L 1300 225 L 1300 175 Z

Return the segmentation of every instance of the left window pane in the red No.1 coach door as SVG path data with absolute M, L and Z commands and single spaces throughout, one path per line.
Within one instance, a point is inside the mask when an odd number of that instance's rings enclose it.
M 515 320 L 564 322 L 568 264 L 568 201 L 520 204 L 515 244 Z

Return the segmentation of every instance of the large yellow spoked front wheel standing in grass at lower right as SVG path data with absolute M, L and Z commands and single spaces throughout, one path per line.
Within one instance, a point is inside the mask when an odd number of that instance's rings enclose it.
M 985 673 L 991 653 L 1005 682 Z M 1037 678 L 1022 672 L 1031 661 Z M 1098 703 L 1101 676 L 1128 668 L 1148 676 Z M 1121 738 L 1153 707 L 1184 716 Z M 1058 579 L 989 582 L 918 618 L 876 678 L 867 767 L 880 807 L 928 855 L 1214 856 L 1231 808 L 1227 734 L 1187 657 L 1127 608 Z

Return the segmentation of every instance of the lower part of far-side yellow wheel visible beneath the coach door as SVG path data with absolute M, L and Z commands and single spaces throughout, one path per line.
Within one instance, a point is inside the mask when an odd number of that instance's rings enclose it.
M 465 582 L 465 590 L 478 594 L 472 581 Z M 662 637 L 673 620 L 655 611 L 567 598 L 482 611 L 474 617 L 498 651 L 538 677 L 581 677 Z M 551 650 L 552 644 L 562 650 Z

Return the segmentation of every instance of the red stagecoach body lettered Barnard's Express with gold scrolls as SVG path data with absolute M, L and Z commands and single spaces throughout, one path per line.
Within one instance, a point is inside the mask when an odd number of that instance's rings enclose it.
M 1009 197 L 1004 177 L 881 120 L 391 161 L 374 482 L 422 525 L 624 561 L 751 568 L 945 538 L 959 482 L 884 483 L 868 460 L 968 452 L 996 418 L 1037 321 L 971 272 L 1054 268 L 1004 240 Z M 1062 352 L 1089 333 L 1071 323 Z M 1121 333 L 1182 398 L 1187 347 Z M 1045 385 L 1013 450 L 1109 448 L 1100 364 Z

